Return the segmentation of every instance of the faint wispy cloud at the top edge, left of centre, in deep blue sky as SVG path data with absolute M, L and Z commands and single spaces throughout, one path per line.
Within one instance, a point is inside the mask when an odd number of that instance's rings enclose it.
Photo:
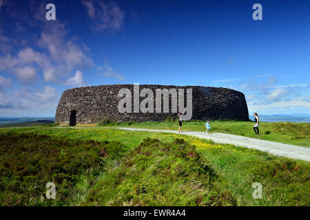
M 95 30 L 121 29 L 125 12 L 116 3 L 93 0 L 83 0 L 82 3 L 87 8 L 87 14 L 92 19 Z

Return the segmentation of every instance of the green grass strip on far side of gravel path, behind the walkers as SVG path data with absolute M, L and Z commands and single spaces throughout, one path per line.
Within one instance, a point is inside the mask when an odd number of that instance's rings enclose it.
M 294 122 L 260 122 L 260 135 L 255 135 L 254 122 L 234 122 L 234 121 L 211 121 L 209 132 L 229 133 L 245 137 L 255 137 L 262 140 L 293 144 L 310 147 L 310 123 Z M 98 126 L 116 127 L 130 126 L 144 129 L 167 129 L 178 130 L 178 122 L 166 120 L 165 122 L 111 122 L 104 120 Z M 200 120 L 184 121 L 183 131 L 205 131 L 205 122 Z

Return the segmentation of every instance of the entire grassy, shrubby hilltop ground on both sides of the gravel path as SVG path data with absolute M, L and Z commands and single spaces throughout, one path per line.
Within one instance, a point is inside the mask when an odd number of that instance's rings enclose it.
M 290 124 L 261 123 L 258 138 L 265 139 L 269 131 L 271 139 L 309 146 L 308 124 L 297 124 L 295 130 L 301 134 L 290 139 L 293 134 L 286 134 L 293 128 Z M 174 121 L 103 124 L 178 128 Z M 203 125 L 184 122 L 183 129 L 204 131 Z M 211 122 L 211 126 L 217 132 L 237 133 L 237 127 L 246 127 L 249 132 L 242 131 L 244 135 L 254 133 L 253 122 Z M 3 128 L 0 158 L 1 206 L 310 205 L 309 162 L 173 133 L 98 126 Z M 56 184 L 56 199 L 45 198 L 49 181 Z M 254 182 L 262 184 L 262 199 L 252 197 Z

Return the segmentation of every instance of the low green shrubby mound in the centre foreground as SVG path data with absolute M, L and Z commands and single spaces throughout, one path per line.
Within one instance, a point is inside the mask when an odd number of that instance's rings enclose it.
M 147 138 L 97 182 L 82 205 L 234 206 L 236 199 L 214 183 L 218 175 L 183 139 Z

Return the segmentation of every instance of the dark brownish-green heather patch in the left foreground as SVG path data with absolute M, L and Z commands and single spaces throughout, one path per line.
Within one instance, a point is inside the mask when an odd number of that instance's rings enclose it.
M 68 205 L 81 175 L 94 178 L 108 159 L 124 154 L 119 142 L 0 134 L 0 206 Z M 48 182 L 56 185 L 56 199 L 45 198 Z

